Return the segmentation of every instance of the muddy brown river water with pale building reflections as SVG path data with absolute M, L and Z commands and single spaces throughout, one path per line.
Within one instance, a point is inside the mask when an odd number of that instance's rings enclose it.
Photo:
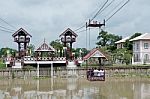
M 150 99 L 150 79 L 1 79 L 0 99 Z

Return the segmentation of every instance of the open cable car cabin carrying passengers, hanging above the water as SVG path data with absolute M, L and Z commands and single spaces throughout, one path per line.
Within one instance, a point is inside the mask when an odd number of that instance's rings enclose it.
M 87 71 L 87 80 L 89 81 L 105 81 L 104 69 L 91 69 Z

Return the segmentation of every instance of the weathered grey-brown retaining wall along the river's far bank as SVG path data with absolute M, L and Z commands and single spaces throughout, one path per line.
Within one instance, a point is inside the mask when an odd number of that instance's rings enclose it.
M 53 76 L 65 78 L 70 76 L 86 77 L 88 68 L 65 69 L 55 68 Z M 36 78 L 38 70 L 34 69 L 0 69 L 0 78 Z M 105 67 L 106 77 L 150 77 L 149 67 Z M 51 77 L 50 68 L 40 68 L 39 77 Z

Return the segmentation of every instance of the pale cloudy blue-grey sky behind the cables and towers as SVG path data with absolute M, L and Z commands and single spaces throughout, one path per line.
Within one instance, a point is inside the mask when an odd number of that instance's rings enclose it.
M 107 4 L 111 1 L 108 0 Z M 94 18 L 94 21 L 103 22 L 104 19 L 108 19 L 126 1 L 114 0 Z M 32 35 L 30 44 L 36 48 L 44 42 L 44 39 L 49 44 L 53 40 L 60 39 L 59 35 L 67 28 L 74 31 L 85 25 L 105 2 L 106 0 L 0 0 L 0 48 L 17 49 L 12 34 L 21 27 Z M 101 29 L 122 37 L 131 36 L 136 32 L 150 33 L 149 5 L 150 0 L 130 0 Z M 73 44 L 74 48 L 96 47 L 100 29 L 91 28 L 90 31 L 88 29 L 87 41 L 86 31 L 80 32 L 85 29 L 86 27 L 74 31 L 78 35 L 77 41 Z

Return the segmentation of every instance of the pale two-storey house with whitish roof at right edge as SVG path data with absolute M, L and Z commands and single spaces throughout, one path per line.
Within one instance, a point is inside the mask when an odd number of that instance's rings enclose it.
M 132 64 L 150 64 L 150 33 L 131 39 L 133 43 Z

